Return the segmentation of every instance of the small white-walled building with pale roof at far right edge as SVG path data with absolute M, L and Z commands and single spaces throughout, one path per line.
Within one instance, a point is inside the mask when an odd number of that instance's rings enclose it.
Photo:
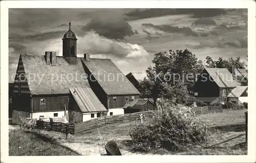
M 248 86 L 237 86 L 232 90 L 232 94 L 228 95 L 228 101 L 232 101 L 234 103 L 248 103 Z

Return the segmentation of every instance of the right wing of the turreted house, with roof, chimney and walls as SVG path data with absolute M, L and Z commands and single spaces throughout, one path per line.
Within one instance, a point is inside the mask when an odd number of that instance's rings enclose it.
M 140 92 L 110 59 L 81 59 L 90 87 L 100 102 L 109 110 L 108 115 L 123 114 L 123 107 L 130 100 L 139 99 Z M 99 75 L 97 75 L 99 74 Z

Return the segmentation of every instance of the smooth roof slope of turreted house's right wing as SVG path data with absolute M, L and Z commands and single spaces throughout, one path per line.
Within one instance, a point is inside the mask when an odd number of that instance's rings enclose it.
M 82 58 L 82 61 L 107 95 L 140 94 L 112 60 L 90 58 L 90 61 L 86 61 Z

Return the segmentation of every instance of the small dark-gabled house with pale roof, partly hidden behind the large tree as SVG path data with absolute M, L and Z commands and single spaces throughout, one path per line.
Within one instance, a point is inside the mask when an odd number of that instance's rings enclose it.
M 146 77 L 146 73 L 131 72 L 126 75 L 126 78 L 141 92 L 141 86 L 139 81 L 142 81 Z

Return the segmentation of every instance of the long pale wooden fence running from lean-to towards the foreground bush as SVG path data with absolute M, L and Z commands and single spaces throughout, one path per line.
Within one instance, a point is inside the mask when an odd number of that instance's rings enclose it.
M 95 118 L 89 121 L 84 121 L 75 124 L 75 134 L 91 130 L 94 128 L 102 127 L 109 124 L 123 124 L 123 123 L 131 123 L 136 121 L 141 121 L 140 115 L 143 114 L 143 120 L 151 119 L 154 115 L 157 115 L 158 111 L 143 111 L 143 112 L 136 112 L 130 114 L 119 114 L 119 115 L 110 115 L 100 118 Z

